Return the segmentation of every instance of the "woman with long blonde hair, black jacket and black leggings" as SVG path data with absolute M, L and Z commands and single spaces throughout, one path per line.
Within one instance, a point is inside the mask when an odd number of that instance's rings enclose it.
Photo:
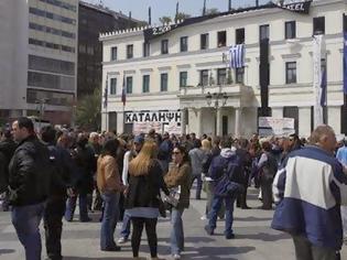
M 142 229 L 145 226 L 151 257 L 158 259 L 156 223 L 160 214 L 160 189 L 165 194 L 169 194 L 169 191 L 156 155 L 156 143 L 148 140 L 140 153 L 129 163 L 130 177 L 126 193 L 126 208 L 131 216 L 133 227 L 131 248 L 134 258 L 139 257 Z

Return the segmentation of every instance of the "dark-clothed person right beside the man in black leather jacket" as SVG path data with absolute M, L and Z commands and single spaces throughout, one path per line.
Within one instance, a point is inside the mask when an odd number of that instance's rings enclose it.
M 47 259 L 61 260 L 63 216 L 67 198 L 67 188 L 71 186 L 72 162 L 68 152 L 55 145 L 56 131 L 53 127 L 42 128 L 41 139 L 50 151 L 52 177 L 50 195 L 45 204 L 43 220 Z

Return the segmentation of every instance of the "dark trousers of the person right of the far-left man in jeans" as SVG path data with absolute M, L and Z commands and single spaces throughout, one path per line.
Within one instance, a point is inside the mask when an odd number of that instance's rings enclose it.
M 62 231 L 63 216 L 65 213 L 66 198 L 50 198 L 46 203 L 43 223 L 45 229 L 46 251 L 51 260 L 62 259 Z

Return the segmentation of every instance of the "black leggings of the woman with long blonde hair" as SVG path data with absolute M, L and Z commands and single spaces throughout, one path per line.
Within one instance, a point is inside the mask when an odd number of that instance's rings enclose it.
M 156 237 L 156 221 L 158 218 L 142 218 L 132 217 L 132 236 L 131 236 L 131 248 L 134 258 L 139 257 L 139 249 L 141 242 L 141 236 L 143 226 L 145 226 L 147 238 L 150 245 L 151 257 L 156 258 L 158 237 Z

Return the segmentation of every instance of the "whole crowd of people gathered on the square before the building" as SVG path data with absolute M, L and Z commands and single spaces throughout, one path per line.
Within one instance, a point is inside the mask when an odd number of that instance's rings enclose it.
M 225 219 L 232 230 L 235 204 L 249 209 L 247 189 L 259 189 L 261 209 L 275 208 L 272 227 L 293 236 L 296 259 L 336 259 L 343 241 L 340 206 L 347 205 L 347 142 L 318 127 L 308 140 L 297 134 L 249 140 L 232 137 L 83 132 L 44 127 L 34 132 L 19 118 L 1 132 L 0 194 L 28 260 L 41 259 L 40 221 L 51 260 L 62 259 L 63 218 L 82 223 L 99 210 L 100 250 L 119 251 L 131 235 L 139 258 L 145 228 L 150 253 L 158 259 L 156 224 L 170 213 L 171 254 L 184 251 L 183 214 L 206 193 L 205 231 L 213 236 Z M 341 207 L 343 218 L 347 209 Z M 345 217 L 344 217 L 345 216 Z M 122 223 L 115 240 L 117 223 Z M 347 223 L 346 223 L 347 227 Z M 132 230 L 131 230 L 132 229 Z M 347 231 L 345 230 L 345 236 Z

